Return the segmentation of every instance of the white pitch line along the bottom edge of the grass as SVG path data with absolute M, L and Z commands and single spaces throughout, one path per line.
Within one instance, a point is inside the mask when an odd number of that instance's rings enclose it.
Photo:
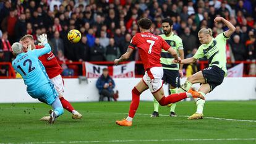
M 162 139 L 162 140 L 93 140 L 61 142 L 25 142 L 0 144 L 50 144 L 50 143 L 126 143 L 126 142 L 190 142 L 190 141 L 255 141 L 256 138 L 197 138 L 197 139 Z

